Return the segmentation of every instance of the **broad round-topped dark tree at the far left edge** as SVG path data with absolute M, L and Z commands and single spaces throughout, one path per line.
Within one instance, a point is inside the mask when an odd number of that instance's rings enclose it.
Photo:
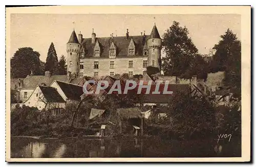
M 11 78 L 25 78 L 33 71 L 34 75 L 41 73 L 40 54 L 31 47 L 19 48 L 11 58 Z

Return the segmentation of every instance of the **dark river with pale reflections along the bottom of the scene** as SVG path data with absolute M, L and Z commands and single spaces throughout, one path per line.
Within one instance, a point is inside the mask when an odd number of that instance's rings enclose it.
M 178 141 L 159 138 L 33 139 L 12 137 L 11 158 L 241 157 L 241 142 L 239 141 L 222 141 L 219 142 L 218 147 L 216 146 L 216 139 Z M 216 150 L 216 148 L 219 149 Z

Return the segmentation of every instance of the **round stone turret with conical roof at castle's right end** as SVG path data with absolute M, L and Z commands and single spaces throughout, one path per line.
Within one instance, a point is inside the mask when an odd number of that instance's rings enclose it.
M 162 39 L 158 33 L 156 24 L 154 25 L 150 39 L 147 40 L 148 46 L 148 66 L 158 67 L 161 70 L 161 49 Z

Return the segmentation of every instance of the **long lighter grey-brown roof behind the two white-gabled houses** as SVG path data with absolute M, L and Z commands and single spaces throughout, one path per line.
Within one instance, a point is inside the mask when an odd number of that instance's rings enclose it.
M 49 86 L 54 80 L 69 82 L 67 75 L 53 75 L 50 78 L 46 76 L 30 76 L 28 75 L 24 79 L 24 85 L 22 89 L 34 89 L 37 85 L 41 85 L 42 83 Z

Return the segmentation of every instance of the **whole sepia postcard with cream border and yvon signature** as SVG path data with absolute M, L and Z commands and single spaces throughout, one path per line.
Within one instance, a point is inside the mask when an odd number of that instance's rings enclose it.
M 6 8 L 6 161 L 250 161 L 250 13 Z

